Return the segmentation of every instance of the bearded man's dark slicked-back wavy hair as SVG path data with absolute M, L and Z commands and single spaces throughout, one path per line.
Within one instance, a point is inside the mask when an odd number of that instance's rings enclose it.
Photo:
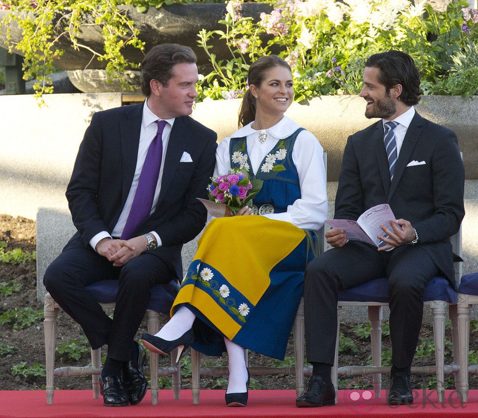
M 379 69 L 378 82 L 385 86 L 387 94 L 394 85 L 401 84 L 398 100 L 407 106 L 420 101 L 420 73 L 410 55 L 391 49 L 372 55 L 365 66 Z

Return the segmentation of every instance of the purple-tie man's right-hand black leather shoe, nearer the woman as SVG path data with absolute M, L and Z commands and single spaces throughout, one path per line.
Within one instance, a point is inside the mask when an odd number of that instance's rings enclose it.
M 134 345 L 132 360 L 123 366 L 123 387 L 128 393 L 131 405 L 141 402 L 148 390 L 148 382 L 143 374 L 146 352 L 136 341 L 134 341 Z

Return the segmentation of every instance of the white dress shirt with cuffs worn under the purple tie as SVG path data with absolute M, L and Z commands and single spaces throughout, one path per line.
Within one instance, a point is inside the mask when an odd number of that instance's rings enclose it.
M 111 238 L 112 236 L 121 236 L 123 232 L 124 226 L 126 225 L 126 220 L 128 219 L 129 211 L 131 209 L 131 205 L 133 204 L 133 200 L 135 198 L 136 189 L 138 188 L 139 182 L 139 175 L 141 174 L 141 169 L 144 165 L 144 160 L 146 159 L 146 154 L 148 153 L 148 148 L 153 142 L 156 134 L 158 133 L 158 125 L 156 124 L 157 120 L 162 120 L 158 118 L 148 107 L 147 100 L 144 101 L 143 105 L 143 116 L 141 120 L 141 130 L 139 132 L 139 147 L 138 147 L 138 158 L 136 160 L 136 169 L 135 175 L 133 177 L 133 183 L 131 184 L 131 188 L 129 189 L 128 197 L 126 198 L 126 202 L 124 204 L 121 213 L 119 214 L 118 222 L 116 223 L 115 228 L 113 229 L 111 235 L 107 231 L 101 231 L 97 233 L 91 240 L 90 245 L 93 249 L 96 249 L 96 246 L 103 238 Z M 161 159 L 161 168 L 159 169 L 159 176 L 158 176 L 158 184 L 156 185 L 156 190 L 153 199 L 153 206 L 151 208 L 151 213 L 154 212 L 156 209 L 156 204 L 158 203 L 159 198 L 159 191 L 161 190 L 161 179 L 162 173 L 164 168 L 164 159 L 166 158 L 166 151 L 168 148 L 169 143 L 169 136 L 171 135 L 171 129 L 174 124 L 173 119 L 165 119 L 167 124 L 164 126 L 162 131 L 162 159 Z M 156 238 L 158 242 L 158 247 L 161 245 L 161 239 L 156 231 L 150 231 Z

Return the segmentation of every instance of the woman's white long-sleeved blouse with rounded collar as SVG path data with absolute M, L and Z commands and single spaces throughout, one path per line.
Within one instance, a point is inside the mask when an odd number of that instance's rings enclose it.
M 224 138 L 216 151 L 214 176 L 227 173 L 231 168 L 229 143 L 231 138 L 247 137 L 247 152 L 251 160 L 251 169 L 256 174 L 264 157 L 281 139 L 289 137 L 300 126 L 284 116 L 276 125 L 266 129 L 267 139 L 260 143 L 259 131 L 251 125 L 243 126 L 230 137 Z M 319 230 L 327 219 L 327 185 L 323 164 L 323 148 L 317 138 L 307 130 L 302 130 L 292 149 L 292 161 L 299 174 L 300 199 L 287 207 L 283 213 L 265 214 L 270 219 L 287 221 L 307 230 Z

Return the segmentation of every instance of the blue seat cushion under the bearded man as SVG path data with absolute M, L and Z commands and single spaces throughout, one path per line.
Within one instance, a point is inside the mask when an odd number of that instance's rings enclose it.
M 381 302 L 390 301 L 387 292 L 387 278 L 370 280 L 359 286 L 339 291 L 339 300 L 344 302 Z M 477 282 L 478 283 L 478 282 Z M 431 300 L 444 300 L 457 303 L 458 293 L 451 287 L 444 277 L 434 277 L 428 282 L 423 294 L 423 302 Z

